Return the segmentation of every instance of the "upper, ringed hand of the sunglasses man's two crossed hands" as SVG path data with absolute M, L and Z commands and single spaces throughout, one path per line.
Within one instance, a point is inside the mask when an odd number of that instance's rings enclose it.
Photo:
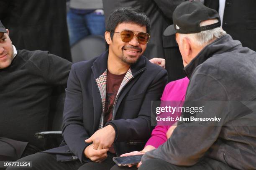
M 108 125 L 102 129 L 97 130 L 90 138 L 85 142 L 93 143 L 93 149 L 101 150 L 111 147 L 115 140 L 115 129 L 113 126 Z

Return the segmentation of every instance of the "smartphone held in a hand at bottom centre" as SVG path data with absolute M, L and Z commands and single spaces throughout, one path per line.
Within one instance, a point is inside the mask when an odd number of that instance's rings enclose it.
M 113 161 L 120 167 L 128 165 L 136 165 L 141 162 L 141 157 L 143 155 L 131 155 L 123 157 L 113 157 Z

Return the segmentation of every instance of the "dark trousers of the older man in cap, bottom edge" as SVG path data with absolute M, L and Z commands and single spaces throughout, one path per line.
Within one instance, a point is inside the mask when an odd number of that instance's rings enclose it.
M 171 159 L 171 158 L 170 158 Z M 118 167 L 115 165 L 111 170 L 137 170 L 133 167 Z M 142 163 L 138 170 L 233 170 L 227 164 L 205 158 L 193 166 L 177 166 L 160 159 L 150 159 Z

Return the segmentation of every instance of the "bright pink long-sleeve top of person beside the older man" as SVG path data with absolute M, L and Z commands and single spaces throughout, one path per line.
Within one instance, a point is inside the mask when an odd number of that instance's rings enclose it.
M 188 84 L 189 79 L 187 77 L 169 82 L 164 88 L 161 101 L 184 101 Z M 166 132 L 169 127 L 171 126 L 156 125 L 145 147 L 151 145 L 157 148 L 166 142 Z

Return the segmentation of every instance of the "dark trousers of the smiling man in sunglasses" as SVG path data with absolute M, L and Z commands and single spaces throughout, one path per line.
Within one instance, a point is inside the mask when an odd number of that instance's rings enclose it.
M 32 168 L 8 167 L 6 170 L 110 170 L 115 165 L 113 162 L 115 154 L 108 154 L 108 158 L 102 163 L 88 162 L 81 163 L 79 160 L 68 162 L 57 162 L 56 155 L 49 153 L 36 153 L 19 159 L 21 161 L 31 161 Z

